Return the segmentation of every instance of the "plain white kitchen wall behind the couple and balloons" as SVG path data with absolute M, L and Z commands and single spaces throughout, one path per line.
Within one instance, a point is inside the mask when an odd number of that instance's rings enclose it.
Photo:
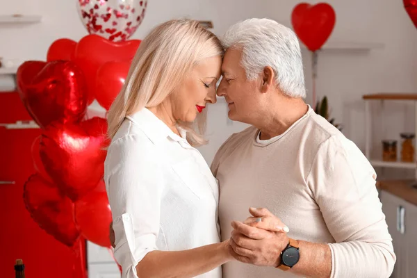
M 133 38 L 143 38 L 156 24 L 174 17 L 212 20 L 214 33 L 221 35 L 228 26 L 247 17 L 270 17 L 290 22 L 291 10 L 300 1 L 288 0 L 148 0 L 142 26 Z M 316 1 L 308 1 L 315 3 Z M 417 29 L 402 7 L 402 1 L 350 0 L 329 1 L 336 10 L 336 27 L 332 41 L 381 42 L 384 49 L 363 52 L 322 52 L 318 64 L 318 95 L 327 95 L 336 122 L 345 126 L 348 138 L 364 147 L 363 101 L 371 92 L 417 92 Z M 58 38 L 79 40 L 86 31 L 75 8 L 76 0 L 0 0 L 0 14 L 27 13 L 42 15 L 41 24 L 0 25 L 0 56 L 22 60 L 44 59 L 47 48 Z M 306 85 L 311 90 L 310 56 L 304 51 Z M 310 101 L 310 96 L 307 98 Z M 401 131 L 414 131 L 410 106 L 387 103 L 386 137 Z M 214 152 L 231 132 L 244 124 L 227 120 L 227 107 L 218 103 L 209 108 L 208 138 L 210 144 L 201 148 L 208 163 Z M 379 117 L 375 106 L 375 115 Z M 407 113 L 404 113 L 406 111 Z M 400 123 L 400 124 L 398 124 Z M 375 126 L 375 133 L 382 129 Z M 391 136 L 389 136 L 391 134 Z M 379 153 L 380 139 L 375 139 Z

